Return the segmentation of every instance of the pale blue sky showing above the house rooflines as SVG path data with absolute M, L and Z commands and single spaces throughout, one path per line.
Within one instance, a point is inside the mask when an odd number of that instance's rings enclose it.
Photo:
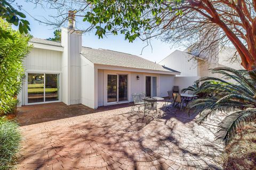
M 39 23 L 34 20 L 28 13 L 38 20 L 45 21 L 44 18 L 50 19 L 49 15 L 55 15 L 55 11 L 48 10 L 47 7 L 42 8 L 41 6 L 35 6 L 35 4 L 25 2 L 24 0 L 17 0 L 14 4 L 22 5 L 22 11 L 27 15 L 27 20 L 30 22 L 31 35 L 37 38 L 49 38 L 53 37 L 54 27 Z M 79 27 L 86 27 L 87 23 L 78 22 Z M 164 57 L 171 54 L 175 49 L 172 48 L 171 44 L 167 44 L 158 39 L 151 39 L 151 45 L 143 49 L 142 55 L 141 50 L 147 44 L 146 42 L 141 41 L 140 39 L 135 40 L 133 43 L 129 43 L 124 39 L 124 35 L 118 36 L 107 36 L 107 38 L 99 39 L 98 36 L 95 36 L 94 32 L 85 33 L 82 37 L 83 46 L 91 48 L 104 48 L 116 50 L 123 53 L 130 53 L 134 55 L 141 56 L 153 62 L 160 62 Z M 180 48 L 182 50 L 183 48 Z

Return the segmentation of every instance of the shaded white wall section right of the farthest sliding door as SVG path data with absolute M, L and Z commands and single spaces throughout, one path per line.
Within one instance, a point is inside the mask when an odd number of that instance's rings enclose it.
M 174 85 L 174 75 L 159 75 L 160 94 L 159 97 L 167 97 L 167 91 L 172 90 Z

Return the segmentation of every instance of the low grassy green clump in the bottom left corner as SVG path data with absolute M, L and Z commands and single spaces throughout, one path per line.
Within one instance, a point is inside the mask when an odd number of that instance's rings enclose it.
M 0 169 L 12 169 L 20 148 L 18 124 L 0 117 Z

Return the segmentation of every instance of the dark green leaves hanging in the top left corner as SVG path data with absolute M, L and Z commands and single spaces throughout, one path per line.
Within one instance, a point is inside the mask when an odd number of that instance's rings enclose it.
M 19 27 L 20 33 L 28 33 L 30 31 L 29 22 L 24 19 L 26 15 L 12 7 L 6 0 L 0 1 L 0 17 L 7 22 Z M 3 28 L 0 28 L 0 38 L 11 38 L 10 33 Z

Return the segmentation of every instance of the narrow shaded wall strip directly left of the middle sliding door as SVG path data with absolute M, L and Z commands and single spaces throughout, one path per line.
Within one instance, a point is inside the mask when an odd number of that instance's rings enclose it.
M 98 106 L 104 105 L 104 72 L 103 70 L 98 70 Z

